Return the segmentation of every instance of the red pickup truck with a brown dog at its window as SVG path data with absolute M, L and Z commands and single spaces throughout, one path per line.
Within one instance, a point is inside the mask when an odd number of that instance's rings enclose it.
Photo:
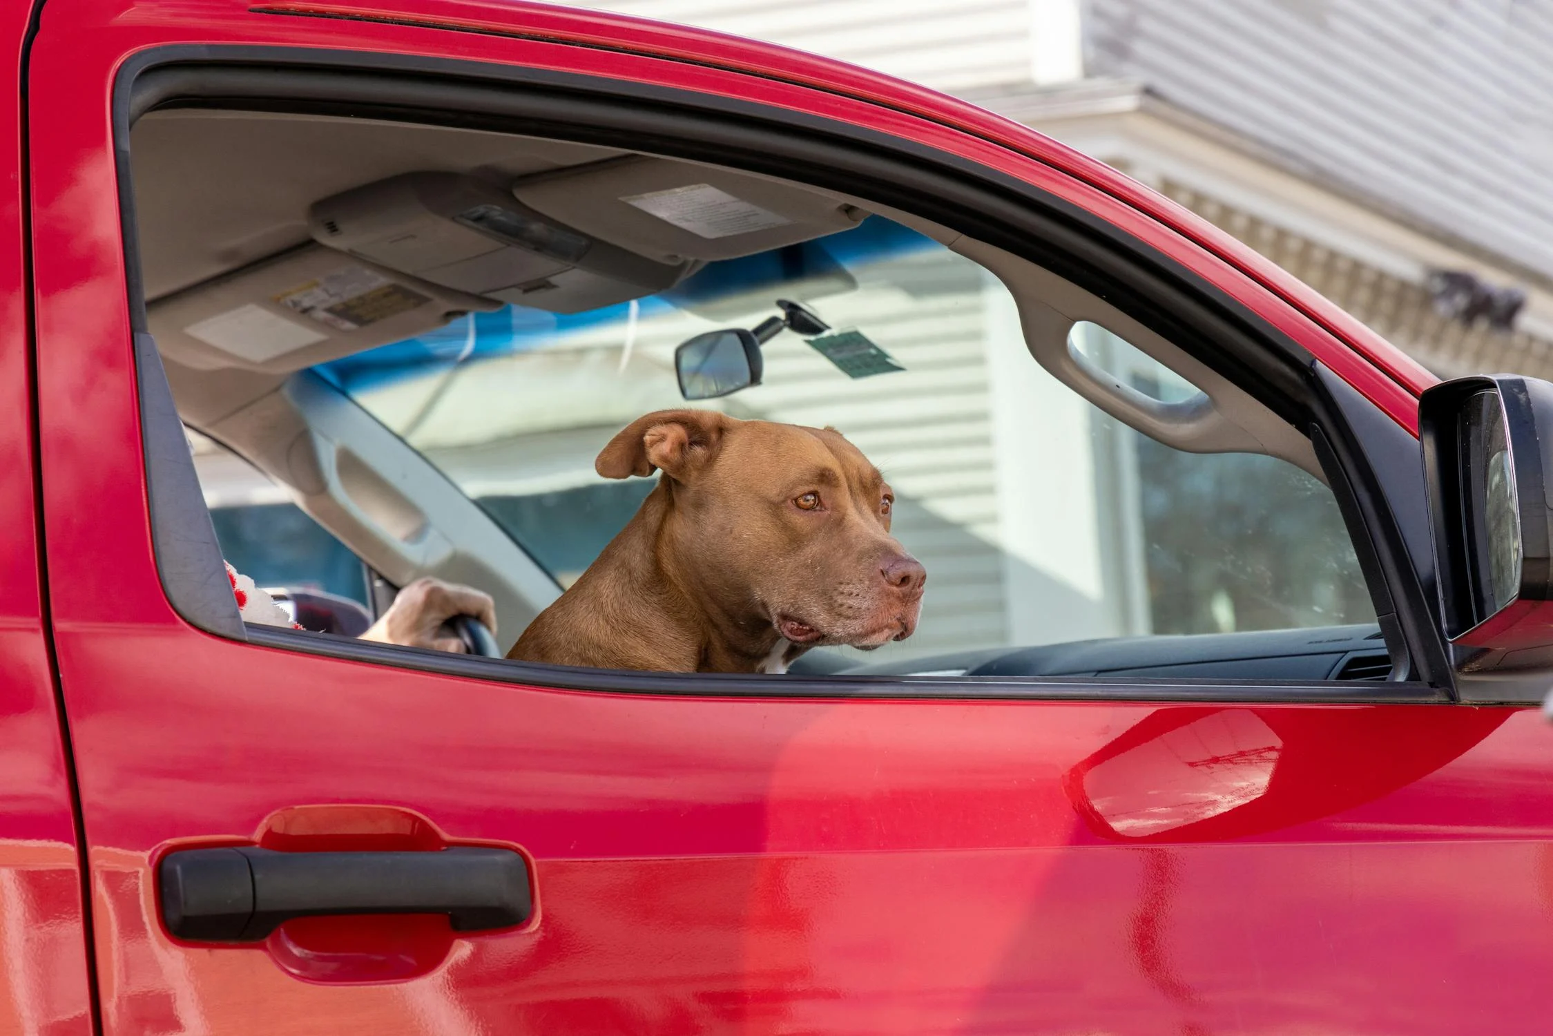
M 1547 1030 L 1553 387 L 1435 384 L 1114 169 L 711 33 L 0 39 L 0 1031 Z M 480 657 L 686 402 L 885 469 L 912 640 Z M 244 624 L 224 556 L 318 621 Z M 351 635 L 419 576 L 494 646 Z

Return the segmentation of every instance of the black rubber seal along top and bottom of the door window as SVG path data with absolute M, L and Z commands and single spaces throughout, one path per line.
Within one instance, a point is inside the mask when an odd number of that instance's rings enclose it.
M 1314 357 L 1200 275 L 1104 219 L 1013 176 L 898 137 L 738 98 L 441 57 L 256 45 L 172 45 L 135 54 L 113 96 L 130 318 L 146 329 L 129 130 L 158 107 L 351 113 L 469 126 L 714 162 L 832 186 L 921 214 L 1020 255 L 1104 297 L 1250 391 L 1297 429 L 1325 416 Z M 1028 155 L 1023 155 L 1028 158 Z M 1373 404 L 1371 404 L 1373 405 Z M 1033 697 L 1100 701 L 1438 702 L 1418 682 L 975 680 L 613 673 L 370 645 L 250 626 L 248 643 L 401 668 L 592 691 L 780 697 Z M 335 643 L 339 641 L 339 643 Z M 424 655 L 424 659 L 413 659 Z M 955 691 L 954 688 L 960 690 Z M 974 690 L 972 690 L 974 688 Z M 1258 693 L 1266 690 L 1266 697 Z

